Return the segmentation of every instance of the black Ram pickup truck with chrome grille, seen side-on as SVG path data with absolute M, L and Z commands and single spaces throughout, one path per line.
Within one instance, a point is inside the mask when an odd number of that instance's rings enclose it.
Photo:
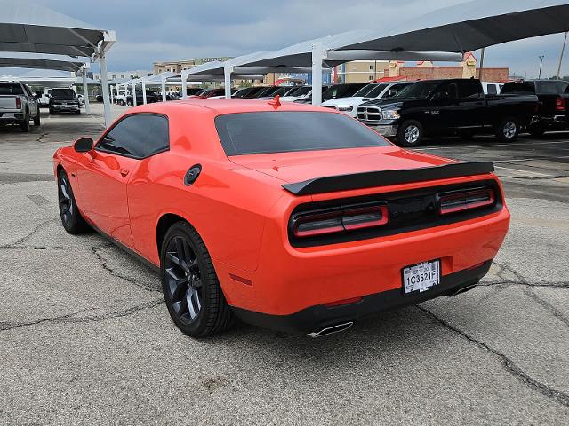
M 419 146 L 424 136 L 494 133 L 512 141 L 537 120 L 538 99 L 531 94 L 485 96 L 475 79 L 426 80 L 390 99 L 366 102 L 357 119 L 399 146 Z

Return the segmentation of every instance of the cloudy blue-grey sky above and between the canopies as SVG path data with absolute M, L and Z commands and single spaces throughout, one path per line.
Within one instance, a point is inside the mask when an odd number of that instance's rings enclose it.
M 391 28 L 464 0 L 36 1 L 115 29 L 118 43 L 109 52 L 108 68 L 126 71 L 152 69 L 155 60 L 236 56 L 353 29 Z M 554 35 L 495 46 L 486 49 L 485 66 L 532 77 L 538 57 L 545 55 L 543 75 L 555 75 L 562 43 L 563 35 Z M 562 75 L 569 75 L 569 54 L 566 59 Z

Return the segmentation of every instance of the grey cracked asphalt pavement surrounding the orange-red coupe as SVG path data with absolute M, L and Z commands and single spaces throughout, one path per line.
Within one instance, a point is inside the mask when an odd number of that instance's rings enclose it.
M 569 133 L 421 147 L 492 160 L 505 187 L 509 235 L 472 291 L 322 339 L 194 340 L 155 272 L 60 225 L 52 153 L 100 112 L 0 130 L 0 424 L 569 424 Z

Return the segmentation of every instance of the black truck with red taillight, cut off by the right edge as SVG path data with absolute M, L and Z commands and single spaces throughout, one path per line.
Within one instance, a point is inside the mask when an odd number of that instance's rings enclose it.
M 539 99 L 539 120 L 527 130 L 539 138 L 546 131 L 569 130 L 569 82 L 562 80 L 524 80 L 504 84 L 502 93 L 536 95 Z

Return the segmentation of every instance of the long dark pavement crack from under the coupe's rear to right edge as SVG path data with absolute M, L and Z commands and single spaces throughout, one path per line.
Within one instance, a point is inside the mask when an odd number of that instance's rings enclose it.
M 531 377 L 530 375 L 525 373 L 524 370 L 522 370 L 520 367 L 518 367 L 514 361 L 509 359 L 509 357 L 507 357 L 506 355 L 501 353 L 501 351 L 494 349 L 493 347 L 489 346 L 488 344 L 486 344 L 482 341 L 479 341 L 476 338 L 474 338 L 473 336 L 463 332 L 461 329 L 454 327 L 451 323 L 449 323 L 448 321 L 445 321 L 445 319 L 441 319 L 441 318 L 437 317 L 437 315 L 435 313 L 430 312 L 428 309 L 423 308 L 420 305 L 417 305 L 416 307 L 421 312 L 426 313 L 430 318 L 437 321 L 437 323 L 441 324 L 443 327 L 453 331 L 453 333 L 455 333 L 457 335 L 460 335 L 461 338 L 466 339 L 470 343 L 476 344 L 479 348 L 482 348 L 485 351 L 493 353 L 493 355 L 495 355 L 496 357 L 498 357 L 500 359 L 501 364 L 504 368 L 506 368 L 506 371 L 508 371 L 510 375 L 515 377 L 521 383 L 524 383 L 526 386 L 532 388 L 533 390 L 537 390 L 538 392 L 541 393 L 541 395 L 557 401 L 562 406 L 569 407 L 569 394 L 566 394 L 560 390 L 553 389 L 553 388 L 549 387 L 548 385 L 533 379 L 533 377 Z

